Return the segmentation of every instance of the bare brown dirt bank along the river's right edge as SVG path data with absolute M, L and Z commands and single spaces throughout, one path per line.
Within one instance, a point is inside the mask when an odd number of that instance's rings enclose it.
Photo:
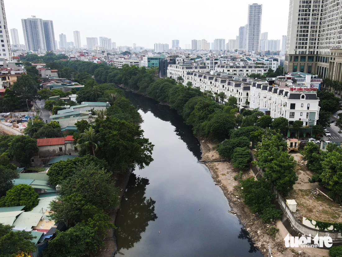
M 274 257 L 292 257 L 292 256 L 309 256 L 304 252 L 297 252 L 292 248 L 286 248 L 284 244 L 283 233 L 277 233 L 275 237 L 272 237 L 266 233 L 270 225 L 266 224 L 255 214 L 252 214 L 249 207 L 246 206 L 239 193 L 238 181 L 234 180 L 234 176 L 239 173 L 240 170 L 234 169 L 232 163 L 220 158 L 218 152 L 213 150 L 215 146 L 213 143 L 208 142 L 205 139 L 199 139 L 201 144 L 202 159 L 204 164 L 208 167 L 212 174 L 212 178 L 217 185 L 219 185 L 224 195 L 229 201 L 231 207 L 231 213 L 236 215 L 245 229 L 250 234 L 250 238 L 255 247 L 258 247 L 260 252 L 264 256 L 268 256 L 268 246 L 271 247 L 271 253 Z M 252 169 L 244 171 L 242 179 L 251 178 L 254 176 Z M 281 221 L 278 221 L 278 223 Z M 282 225 L 282 223 L 281 223 Z M 278 224 L 279 227 L 279 224 Z M 280 228 L 281 229 L 281 228 Z M 284 231 L 280 231 L 284 232 Z M 320 251 L 318 251 L 320 252 Z M 310 256 L 322 256 L 318 253 L 310 253 Z

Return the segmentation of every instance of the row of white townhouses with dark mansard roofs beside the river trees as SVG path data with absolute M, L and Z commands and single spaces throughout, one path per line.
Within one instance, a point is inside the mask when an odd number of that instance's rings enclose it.
M 199 88 L 202 92 L 211 91 L 213 94 L 223 92 L 227 98 L 234 96 L 240 110 L 259 108 L 272 118 L 285 117 L 290 124 L 301 120 L 304 125 L 316 125 L 320 109 L 319 98 L 316 95 L 319 85 L 294 84 L 289 79 L 297 77 L 300 80 L 299 75 L 281 76 L 277 78 L 278 85 L 275 84 L 276 79 L 266 82 L 240 75 L 239 70 L 244 70 L 245 73 L 242 74 L 246 75 L 247 69 L 248 72 L 255 70 L 255 73 L 259 74 L 267 72 L 266 66 L 253 67 L 216 65 L 217 72 L 210 72 L 209 66 L 171 64 L 168 66 L 167 76 L 174 79 L 182 77 L 184 85 L 191 82 L 193 87 Z M 234 69 L 237 72 L 230 74 Z M 307 74 L 306 79 L 314 80 L 310 74 Z

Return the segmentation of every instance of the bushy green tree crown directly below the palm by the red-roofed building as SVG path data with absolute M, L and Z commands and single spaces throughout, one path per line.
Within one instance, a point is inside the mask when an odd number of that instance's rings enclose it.
M 108 163 L 103 159 L 98 159 L 92 155 L 76 157 L 66 161 L 58 161 L 51 165 L 48 176 L 50 184 L 53 186 L 61 185 L 63 181 L 71 177 L 77 170 L 83 167 L 92 166 L 96 170 L 109 170 Z

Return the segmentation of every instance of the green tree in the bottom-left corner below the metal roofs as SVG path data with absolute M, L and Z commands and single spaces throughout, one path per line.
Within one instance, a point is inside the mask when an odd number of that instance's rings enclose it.
M 0 222 L 0 257 L 16 257 L 24 253 L 29 255 L 36 251 L 32 242 L 36 236 L 29 231 L 13 231 L 14 226 L 4 225 Z

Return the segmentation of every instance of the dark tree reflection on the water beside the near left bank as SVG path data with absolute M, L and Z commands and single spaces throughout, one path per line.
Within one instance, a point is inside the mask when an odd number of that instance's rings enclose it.
M 148 179 L 137 177 L 134 173 L 130 175 L 121 204 L 124 208 L 119 209 L 116 218 L 118 252 L 120 249 L 129 249 L 134 243 L 139 242 L 148 222 L 157 219 L 154 212 L 156 201 L 144 196 L 148 184 Z

